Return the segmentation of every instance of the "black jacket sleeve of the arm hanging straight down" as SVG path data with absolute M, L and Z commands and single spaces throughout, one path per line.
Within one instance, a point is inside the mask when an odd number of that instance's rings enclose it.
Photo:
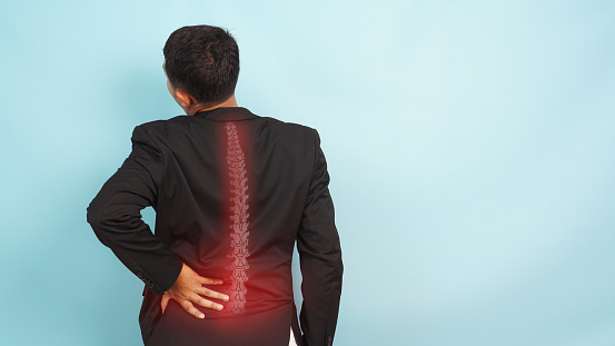
M 304 303 L 299 319 L 305 346 L 331 345 L 341 295 L 341 248 L 329 195 L 329 175 L 320 137 L 297 237 Z

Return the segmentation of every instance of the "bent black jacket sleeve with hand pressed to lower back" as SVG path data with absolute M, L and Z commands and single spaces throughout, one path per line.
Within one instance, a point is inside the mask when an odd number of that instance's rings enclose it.
M 141 219 L 156 204 L 163 157 L 141 126 L 132 131 L 132 151 L 87 208 L 98 239 L 157 295 L 176 281 L 182 260 Z

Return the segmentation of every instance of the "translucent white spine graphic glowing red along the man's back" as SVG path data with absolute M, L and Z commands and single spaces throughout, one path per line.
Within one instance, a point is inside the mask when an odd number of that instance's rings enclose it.
M 248 275 L 248 178 L 246 177 L 246 160 L 239 146 L 239 136 L 235 123 L 227 122 L 227 165 L 230 177 L 230 248 L 232 258 L 230 269 L 230 307 L 234 314 L 242 314 L 246 309 L 246 281 Z

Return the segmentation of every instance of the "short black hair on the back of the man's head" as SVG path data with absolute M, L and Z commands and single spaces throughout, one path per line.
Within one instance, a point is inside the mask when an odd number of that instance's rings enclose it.
M 211 26 L 177 29 L 165 48 L 165 71 L 176 89 L 204 106 L 224 102 L 239 77 L 239 47 L 228 30 Z

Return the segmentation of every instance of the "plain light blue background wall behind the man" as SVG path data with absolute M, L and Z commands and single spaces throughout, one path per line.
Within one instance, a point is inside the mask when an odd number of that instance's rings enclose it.
M 336 345 L 615 345 L 615 2 L 188 0 L 0 6 L 0 344 L 140 344 L 86 207 L 181 113 L 162 47 L 196 23 L 240 106 L 320 132 Z

